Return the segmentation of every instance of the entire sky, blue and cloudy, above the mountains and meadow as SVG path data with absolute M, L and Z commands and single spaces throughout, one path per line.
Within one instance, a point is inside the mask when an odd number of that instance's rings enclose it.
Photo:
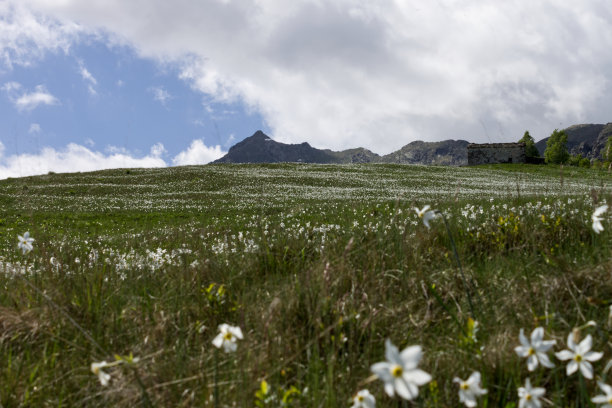
M 612 122 L 609 0 L 0 0 L 0 178 Z

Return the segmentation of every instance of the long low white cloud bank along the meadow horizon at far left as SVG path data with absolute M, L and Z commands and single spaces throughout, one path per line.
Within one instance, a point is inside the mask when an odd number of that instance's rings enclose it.
M 104 154 L 75 143 L 64 149 L 45 147 L 36 154 L 2 156 L 0 143 L 0 179 L 37 174 L 94 171 L 124 167 L 165 167 L 166 162 L 154 154 L 134 157 L 127 152 Z

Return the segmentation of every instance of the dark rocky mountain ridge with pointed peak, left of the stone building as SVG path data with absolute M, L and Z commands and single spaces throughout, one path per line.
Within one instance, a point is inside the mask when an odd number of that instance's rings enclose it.
M 261 130 L 232 146 L 227 154 L 214 163 L 404 163 L 462 165 L 467 163 L 468 142 L 412 142 L 400 150 L 379 156 L 362 147 L 335 152 L 320 150 L 304 142 L 286 144 L 270 139 Z

